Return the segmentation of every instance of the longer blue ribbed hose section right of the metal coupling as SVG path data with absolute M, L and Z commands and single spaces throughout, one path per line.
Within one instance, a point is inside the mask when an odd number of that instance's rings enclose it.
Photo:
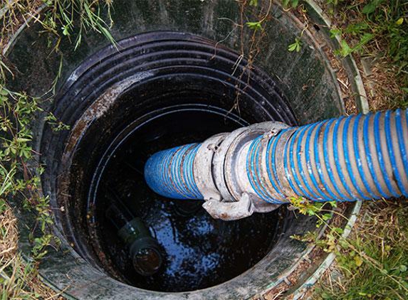
M 271 203 L 408 195 L 408 112 L 353 115 L 251 141 L 246 173 Z

